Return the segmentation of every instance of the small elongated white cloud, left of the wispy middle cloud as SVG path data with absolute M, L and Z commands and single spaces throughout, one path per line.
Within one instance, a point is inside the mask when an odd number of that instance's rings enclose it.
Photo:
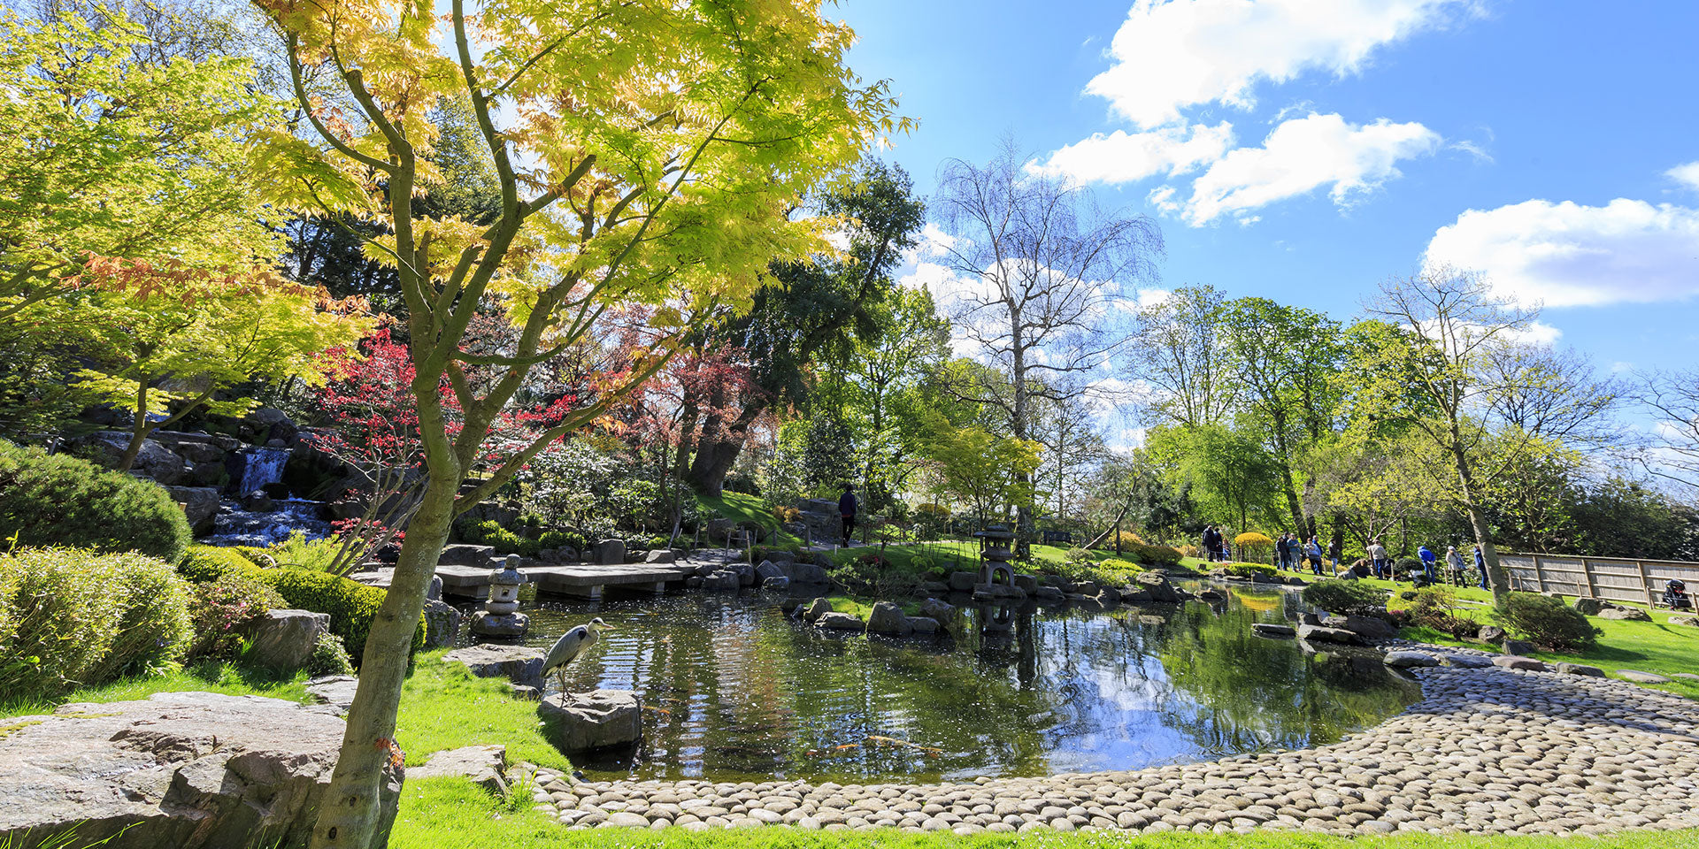
M 1082 183 L 1133 183 L 1159 173 L 1186 173 L 1220 160 L 1233 144 L 1233 126 L 1176 124 L 1149 132 L 1094 132 L 1050 155 L 1028 171 Z

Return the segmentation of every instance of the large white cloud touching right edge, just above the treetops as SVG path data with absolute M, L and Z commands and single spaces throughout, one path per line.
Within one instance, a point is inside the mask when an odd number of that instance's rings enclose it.
M 1699 211 L 1621 197 L 1470 209 L 1434 233 L 1425 261 L 1482 272 L 1527 304 L 1677 301 L 1699 294 Z

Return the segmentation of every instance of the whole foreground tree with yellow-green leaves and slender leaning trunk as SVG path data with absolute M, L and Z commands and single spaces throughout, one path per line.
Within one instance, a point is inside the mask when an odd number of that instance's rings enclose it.
M 267 185 L 296 211 L 381 222 L 389 236 L 367 245 L 396 268 L 416 368 L 425 486 L 311 841 L 365 847 L 408 642 L 454 518 L 627 397 L 691 321 L 748 299 L 773 261 L 826 255 L 834 222 L 790 211 L 904 126 L 883 85 L 844 68 L 853 34 L 812 0 L 265 8 L 306 122 L 265 136 Z M 357 110 L 328 114 L 309 80 Z M 489 151 L 501 187 L 489 224 L 415 207 L 442 180 L 430 153 L 445 100 L 471 105 Z M 467 326 L 491 306 L 511 340 L 471 351 Z M 561 394 L 533 436 L 488 445 L 539 363 L 612 345 L 615 319 L 618 353 L 583 392 Z

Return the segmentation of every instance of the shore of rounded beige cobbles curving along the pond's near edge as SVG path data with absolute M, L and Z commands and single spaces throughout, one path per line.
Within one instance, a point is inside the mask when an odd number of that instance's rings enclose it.
M 1614 679 L 1429 667 L 1424 698 L 1334 745 L 1137 773 L 953 784 L 578 783 L 583 827 L 1599 834 L 1699 827 L 1699 703 Z

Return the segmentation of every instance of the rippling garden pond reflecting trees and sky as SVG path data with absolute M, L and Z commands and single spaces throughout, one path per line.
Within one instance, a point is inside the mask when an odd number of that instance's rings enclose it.
M 940 781 L 1140 769 L 1339 740 L 1420 698 L 1374 654 L 1250 633 L 1295 618 L 1283 591 L 1149 608 L 1024 608 L 1006 632 L 887 638 L 788 620 L 776 599 L 685 594 L 527 604 L 547 647 L 617 630 L 567 688 L 634 689 L 644 742 L 576 756 L 591 779 Z M 552 678 L 550 678 L 550 686 Z

